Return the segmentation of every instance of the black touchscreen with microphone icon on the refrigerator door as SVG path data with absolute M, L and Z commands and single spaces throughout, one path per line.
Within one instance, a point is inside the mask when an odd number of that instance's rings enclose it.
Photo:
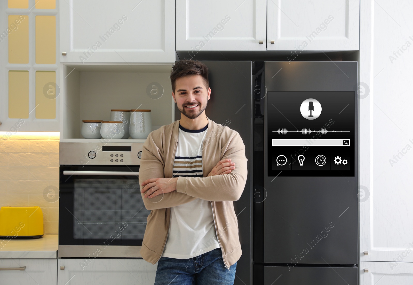
M 268 92 L 268 176 L 354 176 L 355 92 Z

